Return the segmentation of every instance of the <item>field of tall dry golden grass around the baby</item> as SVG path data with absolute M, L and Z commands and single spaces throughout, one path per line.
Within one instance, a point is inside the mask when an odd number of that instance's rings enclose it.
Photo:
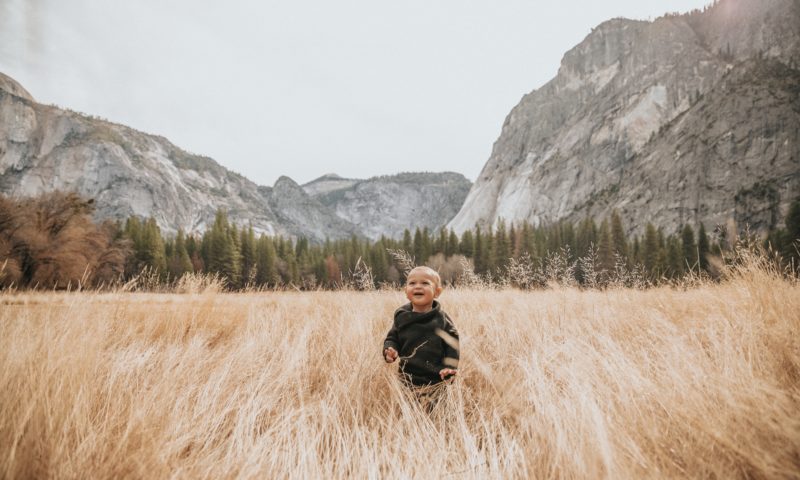
M 800 288 L 446 291 L 428 414 L 399 292 L 0 295 L 4 478 L 800 478 Z

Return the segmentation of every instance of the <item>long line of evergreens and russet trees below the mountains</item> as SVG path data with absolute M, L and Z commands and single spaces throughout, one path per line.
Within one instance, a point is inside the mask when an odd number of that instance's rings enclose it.
M 337 289 L 398 284 L 408 264 L 436 268 L 448 284 L 484 281 L 529 288 L 568 275 L 596 286 L 635 278 L 658 284 L 686 275 L 714 277 L 738 234 L 703 224 L 665 232 L 647 224 L 629 237 L 615 212 L 599 223 L 532 226 L 503 220 L 494 228 L 405 230 L 402 238 L 376 241 L 353 236 L 313 243 L 300 237 L 256 234 L 237 226 L 224 210 L 202 234 L 165 235 L 153 218 L 95 223 L 92 200 L 51 193 L 15 201 L 0 196 L 0 287 L 71 288 L 114 285 L 143 271 L 168 285 L 187 273 L 212 274 L 231 290 L 244 288 Z M 800 201 L 786 228 L 764 244 L 797 272 Z

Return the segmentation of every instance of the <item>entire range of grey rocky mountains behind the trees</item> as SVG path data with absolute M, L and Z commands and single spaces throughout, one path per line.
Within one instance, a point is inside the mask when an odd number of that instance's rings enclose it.
M 204 230 L 222 207 L 318 241 L 613 211 L 628 233 L 766 230 L 800 195 L 798 25 L 798 0 L 603 22 L 511 110 L 474 185 L 445 172 L 258 186 L 163 137 L 40 105 L 0 74 L 0 193 L 74 190 L 102 218 L 154 216 L 166 231 Z

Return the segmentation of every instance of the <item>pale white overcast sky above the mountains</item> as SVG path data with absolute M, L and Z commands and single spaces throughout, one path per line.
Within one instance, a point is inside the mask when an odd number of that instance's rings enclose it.
M 475 180 L 503 120 L 613 17 L 709 0 L 0 0 L 0 71 L 261 185 Z

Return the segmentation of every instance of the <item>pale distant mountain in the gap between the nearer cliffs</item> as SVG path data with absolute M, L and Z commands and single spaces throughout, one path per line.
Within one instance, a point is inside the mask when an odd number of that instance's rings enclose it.
M 325 175 L 303 189 L 366 236 L 399 238 L 406 228 L 438 229 L 455 216 L 472 183 L 459 173 L 416 172 L 367 180 Z

